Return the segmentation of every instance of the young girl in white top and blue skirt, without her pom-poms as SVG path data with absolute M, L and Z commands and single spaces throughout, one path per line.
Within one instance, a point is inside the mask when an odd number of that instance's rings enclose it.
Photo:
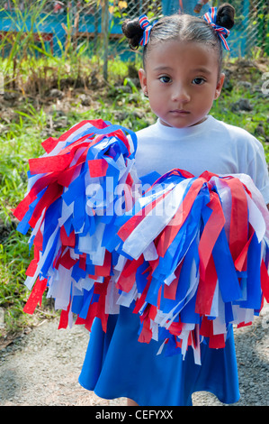
M 138 132 L 139 177 L 183 169 L 199 176 L 245 173 L 269 203 L 269 180 L 262 144 L 245 130 L 208 115 L 220 96 L 222 49 L 234 23 L 234 9 L 211 9 L 205 19 L 167 16 L 153 26 L 146 16 L 122 25 L 137 49 L 144 46 L 142 90 L 157 123 Z M 238 371 L 232 327 L 225 348 L 201 345 L 202 364 L 186 355 L 157 355 L 159 343 L 139 343 L 139 317 L 121 307 L 107 332 L 94 321 L 79 383 L 105 399 L 129 398 L 129 405 L 192 405 L 192 393 L 208 391 L 224 403 L 237 402 Z

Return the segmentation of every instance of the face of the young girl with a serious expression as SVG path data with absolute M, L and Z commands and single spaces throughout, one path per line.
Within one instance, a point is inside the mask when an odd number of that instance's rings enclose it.
M 152 111 L 166 126 L 200 124 L 220 96 L 217 52 L 199 42 L 165 41 L 148 51 L 139 69 L 141 87 Z

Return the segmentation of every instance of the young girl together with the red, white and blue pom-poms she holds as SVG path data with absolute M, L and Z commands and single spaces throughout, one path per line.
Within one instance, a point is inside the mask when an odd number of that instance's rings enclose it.
M 29 161 L 13 211 L 18 231 L 32 228 L 23 310 L 48 290 L 59 328 L 75 315 L 91 331 L 79 382 L 102 398 L 238 401 L 232 324 L 269 301 L 269 180 L 261 143 L 208 115 L 233 12 L 124 23 L 130 45 L 144 45 L 139 78 L 157 123 L 128 139 L 86 120 Z

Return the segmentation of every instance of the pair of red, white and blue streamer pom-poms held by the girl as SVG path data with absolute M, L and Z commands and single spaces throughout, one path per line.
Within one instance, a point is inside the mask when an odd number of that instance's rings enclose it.
M 48 290 L 59 327 L 76 316 L 90 330 L 98 317 L 106 331 L 122 305 L 139 315 L 139 342 L 161 341 L 167 355 L 193 346 L 200 364 L 203 337 L 224 347 L 229 326 L 269 301 L 269 213 L 247 175 L 172 170 L 144 191 L 135 134 L 101 120 L 43 146 L 14 211 L 34 246 L 25 312 Z

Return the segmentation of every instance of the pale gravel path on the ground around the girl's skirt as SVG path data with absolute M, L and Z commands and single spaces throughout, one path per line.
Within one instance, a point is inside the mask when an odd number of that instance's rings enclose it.
M 0 350 L 0 406 L 125 406 L 106 401 L 77 383 L 88 333 L 75 326 L 58 330 L 46 320 Z M 269 305 L 251 327 L 235 330 L 241 400 L 236 406 L 269 406 Z M 194 406 L 222 405 L 206 392 L 194 393 Z

